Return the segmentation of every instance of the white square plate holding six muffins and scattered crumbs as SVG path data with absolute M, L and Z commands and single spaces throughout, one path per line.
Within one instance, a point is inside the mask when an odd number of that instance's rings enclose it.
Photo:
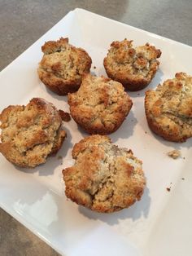
M 163 52 L 159 71 L 147 89 L 177 72 L 191 74 L 192 48 L 155 34 L 76 9 L 24 51 L 0 74 L 0 111 L 9 104 L 27 104 L 42 97 L 68 111 L 67 97 L 46 90 L 37 77 L 41 46 L 45 41 L 68 37 L 88 51 L 92 72 L 106 75 L 103 58 L 114 40 L 133 39 L 135 45 L 154 44 Z M 132 148 L 143 161 L 147 185 L 142 200 L 114 214 L 97 214 L 67 201 L 61 170 L 72 166 L 71 149 L 85 136 L 76 123 L 64 123 L 68 139 L 57 157 L 45 165 L 22 170 L 0 156 L 2 209 L 41 237 L 60 254 L 121 256 L 190 256 L 192 251 L 191 139 L 170 143 L 155 136 L 146 124 L 145 90 L 130 92 L 133 108 L 123 125 L 110 137 L 120 147 Z M 167 152 L 177 148 L 177 160 Z M 63 159 L 60 159 L 62 156 Z M 182 179 L 183 178 L 183 179 Z M 168 192 L 166 188 L 171 187 Z

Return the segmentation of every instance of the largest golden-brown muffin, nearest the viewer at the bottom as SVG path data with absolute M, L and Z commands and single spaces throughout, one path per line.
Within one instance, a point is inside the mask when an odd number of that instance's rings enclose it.
M 75 164 L 63 170 L 63 179 L 66 196 L 76 204 L 111 213 L 141 199 L 146 179 L 131 150 L 91 135 L 75 144 L 72 157 Z

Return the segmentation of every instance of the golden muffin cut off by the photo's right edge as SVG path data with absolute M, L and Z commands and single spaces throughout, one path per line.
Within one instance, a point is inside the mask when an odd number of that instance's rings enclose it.
M 184 142 L 192 136 L 192 77 L 177 73 L 156 90 L 146 91 L 146 119 L 164 139 Z

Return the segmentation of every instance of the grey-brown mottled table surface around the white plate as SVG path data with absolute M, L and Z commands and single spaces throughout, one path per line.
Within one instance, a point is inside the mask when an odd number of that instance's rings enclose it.
M 192 46 L 191 0 L 0 0 L 0 70 L 76 7 Z M 59 255 L 3 210 L 0 254 Z

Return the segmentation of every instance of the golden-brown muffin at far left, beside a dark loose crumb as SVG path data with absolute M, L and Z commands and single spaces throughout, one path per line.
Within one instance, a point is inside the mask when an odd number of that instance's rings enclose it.
M 9 106 L 0 114 L 0 152 L 16 166 L 35 167 L 62 146 L 66 132 L 53 104 L 33 98 L 27 106 Z

